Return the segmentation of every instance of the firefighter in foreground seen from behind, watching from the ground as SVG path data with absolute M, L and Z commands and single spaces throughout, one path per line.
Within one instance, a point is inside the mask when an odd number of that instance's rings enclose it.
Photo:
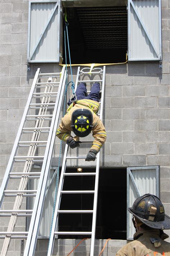
M 163 232 L 170 229 L 170 217 L 165 214 L 160 199 L 145 194 L 127 210 L 133 214 L 136 233 L 134 241 L 123 246 L 116 256 L 170 256 L 170 243 L 164 241 L 169 236 Z

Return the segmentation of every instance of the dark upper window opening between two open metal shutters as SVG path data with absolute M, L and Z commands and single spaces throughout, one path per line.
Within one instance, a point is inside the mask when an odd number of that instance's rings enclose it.
M 126 6 L 67 8 L 67 20 L 71 64 L 126 62 Z

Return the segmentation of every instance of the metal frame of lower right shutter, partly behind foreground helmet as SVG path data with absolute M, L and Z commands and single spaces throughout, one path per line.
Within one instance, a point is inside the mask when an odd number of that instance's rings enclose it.
M 140 191 L 138 190 L 137 188 L 137 184 L 134 180 L 134 177 L 133 177 L 133 174 L 131 171 L 133 170 L 151 170 L 151 169 L 155 169 L 155 189 L 156 189 L 156 193 L 155 193 L 155 196 L 159 197 L 160 198 L 160 166 L 137 166 L 137 167 L 128 167 L 127 168 L 127 208 L 128 207 L 132 207 L 132 205 L 129 205 L 129 197 L 130 197 L 130 179 L 132 180 L 132 183 L 134 185 L 134 188 L 136 190 L 136 193 L 137 193 L 137 196 L 140 197 L 142 196 L 142 194 L 140 193 Z M 148 191 L 146 193 L 149 193 Z M 137 199 L 137 198 L 136 198 Z M 131 214 L 127 211 L 127 240 L 133 240 L 133 237 L 132 237 L 132 234 L 130 234 L 130 230 L 129 230 L 129 227 L 130 227 L 130 221 L 129 221 L 129 216 Z M 132 223 L 131 223 L 132 225 Z M 132 231 L 133 231 L 133 234 L 135 233 L 135 229 L 134 227 L 132 226 Z

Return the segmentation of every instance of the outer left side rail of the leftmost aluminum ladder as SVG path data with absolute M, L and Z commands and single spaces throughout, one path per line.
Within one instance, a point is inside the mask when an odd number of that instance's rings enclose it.
M 20 122 L 20 126 L 19 126 L 19 129 L 18 129 L 18 133 L 16 135 L 16 139 L 15 139 L 15 142 L 14 142 L 14 146 L 13 146 L 13 149 L 12 149 L 12 152 L 11 152 L 11 155 L 10 155 L 10 158 L 9 158 L 9 162 L 8 162 L 8 165 L 6 167 L 6 171 L 5 171 L 5 175 L 4 175 L 4 179 L 2 181 L 2 184 L 1 184 L 1 188 L 0 188 L 0 208 L 2 206 L 2 203 L 3 203 L 3 199 L 4 199 L 4 190 L 6 189 L 6 187 L 8 186 L 8 182 L 9 182 L 9 173 L 11 172 L 12 168 L 13 168 L 13 165 L 14 165 L 14 156 L 16 154 L 16 151 L 18 149 L 18 142 L 20 140 L 20 136 L 22 134 L 22 128 L 24 126 L 24 123 L 25 123 L 25 119 L 26 119 L 26 116 L 27 116 L 27 113 L 29 111 L 29 104 L 32 100 L 32 94 L 34 92 L 34 89 L 36 87 L 36 82 L 38 81 L 39 79 L 39 71 L 40 71 L 40 68 L 37 69 L 36 71 L 36 75 L 34 77 L 34 80 L 33 80 L 33 84 L 32 84 L 32 87 L 31 87 L 31 90 L 30 90 L 30 93 L 29 93 L 29 96 L 28 96 L 28 100 L 27 100 L 27 103 L 26 103 L 26 106 L 25 106 L 25 109 L 24 109 L 24 113 L 23 113 L 23 117 L 22 117 L 22 120 Z

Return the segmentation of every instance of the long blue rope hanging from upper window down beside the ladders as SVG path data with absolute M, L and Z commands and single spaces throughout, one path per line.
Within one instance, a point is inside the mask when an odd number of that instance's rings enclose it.
M 67 25 L 68 26 L 68 25 Z M 65 26 L 66 28 L 66 26 Z M 65 29 L 66 30 L 66 29 Z M 66 57 L 66 83 L 65 83 L 65 93 L 64 93 L 64 109 L 63 109 L 63 116 L 66 109 L 66 94 L 67 94 L 67 88 L 70 82 L 68 83 L 68 73 L 67 73 L 67 56 L 66 56 L 66 32 L 64 30 L 64 42 L 65 42 L 65 57 Z M 67 41 L 68 41 L 68 48 L 69 48 L 69 39 L 68 39 L 68 31 L 67 31 Z M 70 58 L 70 49 L 69 49 L 69 58 Z M 71 69 L 71 60 L 70 60 L 70 69 Z M 71 79 L 72 79 L 72 70 L 71 70 Z M 72 82 L 72 90 L 74 90 L 74 82 Z M 74 93 L 73 93 L 74 94 Z M 60 161 L 61 161 L 61 151 L 62 151 L 62 140 L 60 142 L 60 153 L 58 158 L 58 168 L 57 168 L 57 178 L 56 178 L 56 186 L 55 186 L 55 196 L 54 196 L 54 205 L 53 205 L 53 212 L 52 212 L 52 220 L 51 220 L 51 227 L 49 232 L 49 241 L 51 238 L 51 232 L 52 232 L 52 225 L 54 220 L 54 213 L 55 213 L 55 207 L 56 207 L 56 200 L 57 200 L 57 192 L 58 192 L 58 178 L 59 178 L 59 170 L 60 170 Z M 49 242 L 48 242 L 48 248 L 49 248 Z

